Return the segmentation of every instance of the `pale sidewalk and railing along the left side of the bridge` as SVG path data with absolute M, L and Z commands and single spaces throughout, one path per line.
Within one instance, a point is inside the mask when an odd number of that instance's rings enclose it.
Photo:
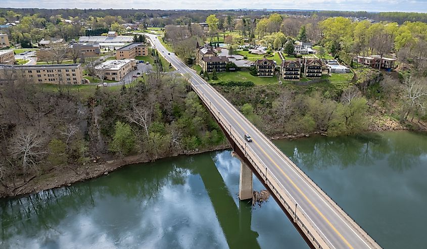
M 277 199 L 279 200 L 282 207 L 294 217 L 294 222 L 300 227 L 301 231 L 310 239 L 313 246 L 316 248 L 329 248 L 328 244 L 324 241 L 322 236 L 313 227 L 313 223 L 309 221 L 307 214 L 301 209 L 296 200 L 287 194 L 286 188 L 280 183 L 276 176 L 262 163 L 261 159 L 252 150 L 250 146 L 246 146 L 242 134 L 237 132 L 232 125 L 227 122 L 225 117 L 215 108 L 214 105 L 205 97 L 204 93 L 192 84 L 193 89 L 198 93 L 204 104 L 208 107 L 211 114 L 218 121 L 219 124 L 228 132 L 231 139 L 238 145 L 241 150 L 245 153 L 246 158 L 252 163 L 252 166 L 263 178 L 265 184 L 267 184 Z

